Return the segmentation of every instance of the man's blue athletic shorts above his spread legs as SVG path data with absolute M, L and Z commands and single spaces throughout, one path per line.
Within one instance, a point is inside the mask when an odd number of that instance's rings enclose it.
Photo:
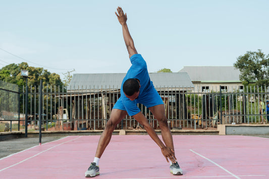
M 122 97 L 120 97 L 113 108 L 126 110 L 125 106 L 122 103 L 122 100 L 125 100 L 125 99 L 122 99 Z M 157 90 L 154 88 L 153 85 L 152 87 L 144 91 L 143 94 L 140 94 L 137 99 L 135 99 L 135 104 L 137 103 L 143 104 L 146 107 L 152 107 L 155 105 L 164 104 L 162 98 L 160 97 L 160 95 L 158 94 Z M 129 113 L 129 115 L 135 115 L 140 111 L 138 107 L 137 107 L 137 110 L 138 111 L 136 112 L 135 111 L 129 112 L 128 110 L 126 111 Z

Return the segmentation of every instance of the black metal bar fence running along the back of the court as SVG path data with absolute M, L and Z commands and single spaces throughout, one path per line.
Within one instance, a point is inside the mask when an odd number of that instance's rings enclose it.
M 1 131 L 25 128 L 25 100 L 28 101 L 28 131 L 37 130 L 39 124 L 42 130 L 47 131 L 102 130 L 120 97 L 118 87 L 93 86 L 67 91 L 64 87 L 44 85 L 42 93 L 40 86 L 30 86 L 28 99 L 25 99 L 25 88 L 19 93 L 17 86 L 15 90 L 15 87 L 7 88 L 11 84 L 6 82 L 1 82 L 1 85 Z M 267 87 L 231 91 L 221 86 L 206 91 L 183 87 L 155 88 L 164 100 L 171 129 L 216 128 L 217 124 L 232 123 L 253 124 L 260 123 L 267 117 L 266 108 L 263 113 L 259 112 L 259 100 L 265 106 L 265 101 L 269 99 Z M 141 104 L 138 107 L 152 127 L 158 129 L 153 114 Z M 127 115 L 116 129 L 141 129 L 141 126 Z

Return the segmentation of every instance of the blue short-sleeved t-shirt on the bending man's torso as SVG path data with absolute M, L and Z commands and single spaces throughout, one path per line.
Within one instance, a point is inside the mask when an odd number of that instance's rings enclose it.
M 135 115 L 140 112 L 140 109 L 137 107 L 137 101 L 139 98 L 143 96 L 143 94 L 150 89 L 151 87 L 154 88 L 152 82 L 150 81 L 148 72 L 147 72 L 147 64 L 142 57 L 141 54 L 134 54 L 130 57 L 131 61 L 131 68 L 128 70 L 126 76 L 123 79 L 122 86 L 126 80 L 129 78 L 136 78 L 140 81 L 140 93 L 137 99 L 131 101 L 127 98 L 123 92 L 121 86 L 121 100 L 123 105 L 125 106 L 126 111 L 129 115 Z

